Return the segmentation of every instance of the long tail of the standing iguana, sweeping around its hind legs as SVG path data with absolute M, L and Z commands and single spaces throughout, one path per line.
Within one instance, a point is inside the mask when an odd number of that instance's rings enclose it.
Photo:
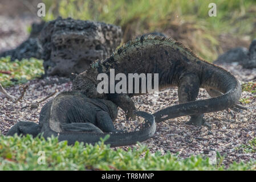
M 221 96 L 178 104 L 157 111 L 155 114 L 156 122 L 181 117 L 184 115 L 212 113 L 225 110 L 239 100 L 242 92 L 239 81 L 221 67 L 212 64 L 202 73 L 205 77 L 202 82 L 202 88 L 212 88 L 220 91 Z M 212 65 L 212 66 L 211 66 Z

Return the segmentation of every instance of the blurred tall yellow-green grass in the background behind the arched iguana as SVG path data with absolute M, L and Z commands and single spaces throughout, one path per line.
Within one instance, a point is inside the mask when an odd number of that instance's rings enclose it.
M 166 32 L 198 55 L 213 61 L 231 47 L 256 37 L 256 2 L 217 0 L 217 16 L 209 17 L 204 0 L 43 0 L 45 20 L 60 15 L 122 27 L 124 42 L 146 32 Z M 248 45 L 246 45 L 248 46 Z

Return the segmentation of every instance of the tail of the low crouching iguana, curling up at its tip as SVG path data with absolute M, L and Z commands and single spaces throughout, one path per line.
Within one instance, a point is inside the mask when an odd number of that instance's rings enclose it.
M 143 142 L 144 140 L 151 138 L 156 131 L 156 123 L 153 115 L 148 114 L 144 111 L 136 111 L 135 114 L 145 118 L 145 125 L 147 126 L 144 126 L 143 129 L 141 129 L 140 131 L 132 131 L 129 133 L 110 133 L 110 137 L 104 143 L 110 144 L 111 147 L 128 146 L 131 144 L 136 144 L 137 142 Z M 48 131 L 43 134 L 44 137 L 51 137 L 51 135 L 54 135 L 55 137 L 58 136 L 59 141 L 67 140 L 68 144 L 74 144 L 76 141 L 94 144 L 99 142 L 100 138 L 104 138 L 108 135 L 107 133 L 100 134 L 81 131 L 67 131 L 62 133 L 56 133 L 55 131 L 51 130 L 50 127 L 47 128 Z

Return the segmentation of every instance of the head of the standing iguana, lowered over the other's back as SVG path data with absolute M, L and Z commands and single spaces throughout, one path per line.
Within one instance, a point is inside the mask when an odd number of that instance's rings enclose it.
M 89 98 L 105 98 L 104 93 L 97 92 L 96 77 L 88 76 L 86 72 L 80 73 L 72 82 L 72 90 L 77 90 Z

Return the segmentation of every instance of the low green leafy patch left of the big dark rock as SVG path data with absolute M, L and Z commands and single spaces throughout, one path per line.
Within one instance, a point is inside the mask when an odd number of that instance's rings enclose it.
M 0 82 L 5 86 L 24 84 L 27 80 L 44 73 L 43 61 L 31 58 L 10 61 L 10 57 L 0 58 Z

